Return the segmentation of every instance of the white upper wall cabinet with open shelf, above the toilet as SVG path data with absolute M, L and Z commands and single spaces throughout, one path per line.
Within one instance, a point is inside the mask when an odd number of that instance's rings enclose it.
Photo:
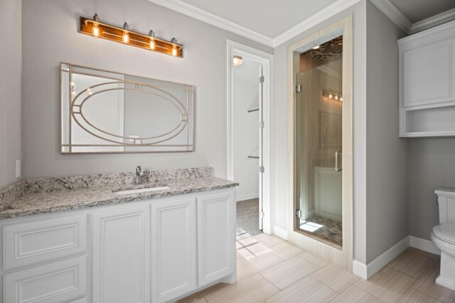
M 455 21 L 398 45 L 400 137 L 455 136 Z

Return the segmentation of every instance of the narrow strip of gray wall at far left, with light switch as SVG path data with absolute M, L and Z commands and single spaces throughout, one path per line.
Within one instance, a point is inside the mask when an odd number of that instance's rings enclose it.
M 0 1 L 0 188 L 16 181 L 21 159 L 21 5 Z

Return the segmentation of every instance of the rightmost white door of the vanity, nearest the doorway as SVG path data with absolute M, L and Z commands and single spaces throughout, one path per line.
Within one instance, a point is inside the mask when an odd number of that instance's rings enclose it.
M 235 193 L 198 197 L 198 286 L 235 271 Z

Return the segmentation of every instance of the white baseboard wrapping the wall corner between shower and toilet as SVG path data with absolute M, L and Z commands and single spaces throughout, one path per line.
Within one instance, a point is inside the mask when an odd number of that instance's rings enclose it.
M 361 263 L 358 260 L 353 260 L 353 273 L 368 280 L 381 268 L 387 265 L 387 263 L 397 258 L 397 256 L 408 247 L 410 247 L 410 236 L 406 236 L 400 242 L 385 250 L 384 253 L 378 255 L 378 257 L 368 263 L 368 265 L 365 265 L 365 263 Z

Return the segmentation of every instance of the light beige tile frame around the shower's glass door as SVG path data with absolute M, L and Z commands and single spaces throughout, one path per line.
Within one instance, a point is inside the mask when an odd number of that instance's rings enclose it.
M 305 50 L 343 35 L 343 246 L 331 245 L 328 241 L 297 228 L 297 158 L 296 158 L 296 74 L 299 71 L 299 56 Z M 353 16 L 346 16 L 287 48 L 288 91 L 288 241 L 314 255 L 352 271 L 353 263 Z M 305 88 L 302 88 L 305 89 Z

